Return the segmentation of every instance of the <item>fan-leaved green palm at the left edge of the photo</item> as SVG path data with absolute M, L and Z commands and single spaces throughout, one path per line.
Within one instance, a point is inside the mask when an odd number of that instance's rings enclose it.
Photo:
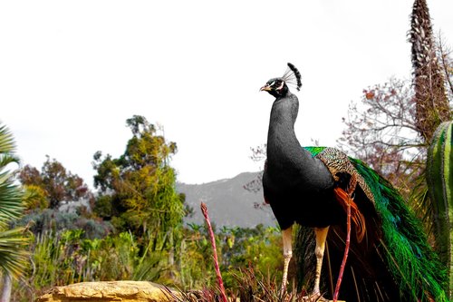
M 4 290 L 1 301 L 9 301 L 12 278 L 20 277 L 27 263 L 25 247 L 28 238 L 24 228 L 11 229 L 9 223 L 23 213 L 23 191 L 14 182 L 11 164 L 18 164 L 14 156 L 14 138 L 4 125 L 0 125 L 0 274 Z

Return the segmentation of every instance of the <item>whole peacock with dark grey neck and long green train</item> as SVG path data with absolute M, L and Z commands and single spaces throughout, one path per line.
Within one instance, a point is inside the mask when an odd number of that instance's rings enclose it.
M 302 147 L 294 132 L 301 74 L 292 63 L 260 91 L 275 97 L 267 136 L 263 189 L 282 229 L 284 272 L 293 255 L 293 226 L 314 230 L 312 297 L 322 297 L 326 246 L 334 279 L 345 261 L 340 297 L 352 301 L 447 301 L 445 268 L 421 224 L 389 181 L 364 162 L 329 147 Z M 353 232 L 346 240 L 347 218 Z M 308 247 L 309 242 L 304 242 Z M 325 265 L 325 264 L 324 264 Z M 333 293 L 332 293 L 333 294 Z

